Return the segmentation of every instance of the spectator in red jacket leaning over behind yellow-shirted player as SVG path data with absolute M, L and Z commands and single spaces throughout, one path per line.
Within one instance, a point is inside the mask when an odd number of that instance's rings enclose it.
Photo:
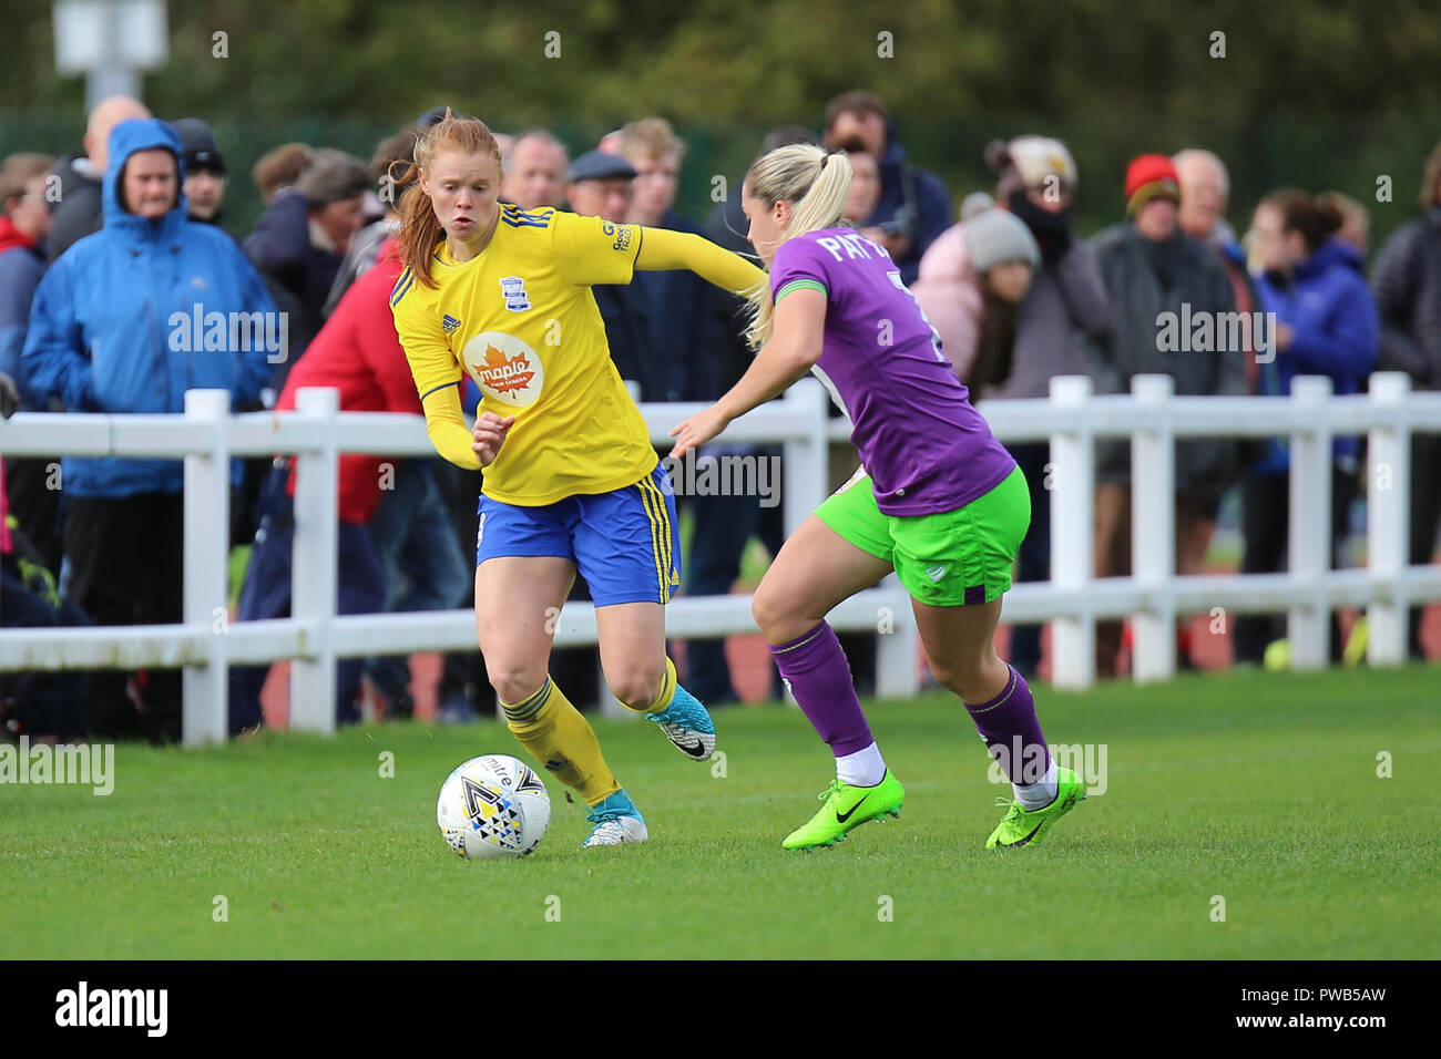
M 380 248 L 376 267 L 346 291 L 330 320 L 295 362 L 275 411 L 295 408 L 301 386 L 334 386 L 343 412 L 421 414 L 405 352 L 391 317 L 391 290 L 401 275 L 395 239 Z M 385 609 L 385 572 L 366 523 L 380 503 L 385 464 L 375 455 L 340 457 L 337 516 L 340 519 L 339 614 Z M 259 621 L 290 614 L 291 545 L 295 473 L 290 457 L 278 457 L 261 494 L 261 524 L 241 589 L 239 620 Z M 336 718 L 359 720 L 360 658 L 337 663 Z M 231 732 L 261 723 L 261 687 L 268 667 L 236 667 L 231 673 Z

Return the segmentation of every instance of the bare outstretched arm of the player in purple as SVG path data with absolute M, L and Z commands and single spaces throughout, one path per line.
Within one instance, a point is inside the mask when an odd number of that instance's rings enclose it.
M 771 340 L 755 354 L 741 380 L 716 403 L 670 431 L 677 460 L 720 434 L 732 419 L 784 393 L 820 360 L 826 333 L 826 295 L 801 288 L 775 305 Z

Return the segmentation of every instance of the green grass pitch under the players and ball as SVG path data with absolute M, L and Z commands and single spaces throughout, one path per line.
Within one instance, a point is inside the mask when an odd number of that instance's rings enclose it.
M 1009 787 L 987 781 L 970 720 L 940 693 L 869 707 L 906 785 L 901 818 L 808 854 L 780 840 L 814 811 L 830 759 L 781 706 L 718 712 L 723 769 L 684 761 L 643 722 L 598 722 L 650 843 L 578 850 L 584 807 L 548 778 L 550 831 L 519 862 L 463 860 L 435 826 L 451 768 L 519 755 L 496 723 L 121 745 L 110 797 L 0 785 L 0 958 L 1441 949 L 1441 670 L 1038 693 L 1048 741 L 1105 745 L 1107 790 L 1045 844 L 1009 853 L 983 849 Z

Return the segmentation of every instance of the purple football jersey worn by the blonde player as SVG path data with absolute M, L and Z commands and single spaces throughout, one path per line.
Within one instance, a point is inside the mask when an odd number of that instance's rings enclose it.
M 771 262 L 771 294 L 801 288 L 826 294 L 816 375 L 850 418 L 882 511 L 953 511 L 1016 468 L 883 246 L 850 228 L 788 239 Z

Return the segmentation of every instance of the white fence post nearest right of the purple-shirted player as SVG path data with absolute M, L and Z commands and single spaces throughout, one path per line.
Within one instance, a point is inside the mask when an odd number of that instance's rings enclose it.
M 1084 375 L 1050 380 L 1050 403 L 1074 411 L 1091 399 Z M 1095 578 L 1095 450 L 1089 426 L 1050 435 L 1050 581 L 1084 592 Z M 1050 679 L 1058 687 L 1095 683 L 1095 615 L 1062 614 L 1050 622 Z

